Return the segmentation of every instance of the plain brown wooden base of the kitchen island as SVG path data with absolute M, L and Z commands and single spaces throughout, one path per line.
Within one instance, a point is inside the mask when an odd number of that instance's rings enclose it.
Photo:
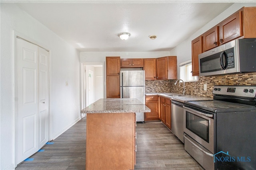
M 135 113 L 88 113 L 86 122 L 86 170 L 133 170 Z

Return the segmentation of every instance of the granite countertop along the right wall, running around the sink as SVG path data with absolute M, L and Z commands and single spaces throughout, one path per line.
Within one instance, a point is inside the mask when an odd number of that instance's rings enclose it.
M 208 97 L 192 96 L 192 95 L 183 96 L 182 94 L 170 93 L 170 92 L 165 92 L 165 93 L 150 92 L 150 93 L 145 93 L 145 95 L 159 95 L 159 96 L 170 98 L 171 100 L 176 100 L 176 101 L 182 102 L 182 103 L 184 103 L 185 101 L 213 100 L 213 98 L 208 98 Z M 168 96 L 168 95 L 173 95 L 173 96 Z

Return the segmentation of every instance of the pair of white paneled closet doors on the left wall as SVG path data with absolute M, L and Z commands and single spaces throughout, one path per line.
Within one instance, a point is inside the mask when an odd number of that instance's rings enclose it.
M 49 52 L 16 38 L 16 164 L 48 141 Z

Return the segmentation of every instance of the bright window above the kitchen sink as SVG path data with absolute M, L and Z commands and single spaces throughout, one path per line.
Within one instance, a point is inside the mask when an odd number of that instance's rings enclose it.
M 180 63 L 180 79 L 184 82 L 195 82 L 198 80 L 198 76 L 192 76 L 192 61 L 186 61 Z

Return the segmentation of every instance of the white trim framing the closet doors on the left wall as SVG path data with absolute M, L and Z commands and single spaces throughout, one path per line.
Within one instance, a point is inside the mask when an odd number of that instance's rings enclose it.
M 16 106 L 16 97 L 17 97 L 17 89 L 16 89 L 16 37 L 19 37 L 20 39 L 23 39 L 25 41 L 28 41 L 32 44 L 38 45 L 39 47 L 42 47 L 43 49 L 46 49 L 46 51 L 49 51 L 49 55 L 50 55 L 50 61 L 49 61 L 49 141 L 53 139 L 53 135 L 52 135 L 52 113 L 50 111 L 50 91 L 51 91 L 51 80 L 52 80 L 52 74 L 51 74 L 51 68 L 52 68 L 52 51 L 49 47 L 47 47 L 47 45 L 43 45 L 42 43 L 35 41 L 34 39 L 31 39 L 30 37 L 27 37 L 26 35 L 23 35 L 22 33 L 19 33 L 18 31 L 13 30 L 12 31 L 12 65 L 13 65 L 13 69 L 12 69 L 12 82 L 13 82 L 13 87 L 12 87 L 12 101 L 13 101 L 13 141 L 12 141 L 12 145 L 13 145 L 13 164 L 14 167 L 17 166 L 16 163 L 16 123 L 17 123 L 17 106 Z

